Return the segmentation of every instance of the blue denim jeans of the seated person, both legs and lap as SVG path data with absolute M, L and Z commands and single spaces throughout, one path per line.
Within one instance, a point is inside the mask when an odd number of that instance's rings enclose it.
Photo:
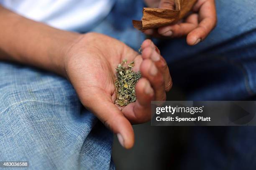
M 195 47 L 159 41 L 174 85 L 188 100 L 247 100 L 256 92 L 256 0 L 216 0 L 218 26 Z M 136 9 L 134 9 L 136 7 Z M 117 0 L 92 31 L 135 50 L 143 2 Z M 72 85 L 50 72 L 0 62 L 0 160 L 30 169 L 114 169 L 112 133 L 82 107 Z M 254 127 L 194 127 L 181 168 L 255 169 Z M 137 139 L 140 140 L 140 139 Z M 184 162 L 185 161 L 185 162 Z

